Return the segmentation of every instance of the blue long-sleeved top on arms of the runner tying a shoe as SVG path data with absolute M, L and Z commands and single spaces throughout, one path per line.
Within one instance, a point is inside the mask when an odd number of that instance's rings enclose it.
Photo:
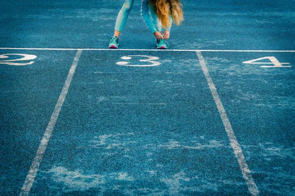
M 149 7 L 150 7 L 150 10 L 149 10 Z M 150 12 L 151 16 L 149 15 L 149 12 Z M 148 0 L 141 0 L 141 16 L 143 17 L 143 19 L 144 19 L 146 25 L 148 26 L 148 29 L 149 29 L 150 32 L 154 33 L 157 30 L 162 31 L 162 29 L 159 29 L 159 28 L 157 29 L 155 27 L 155 25 L 159 26 L 159 24 L 156 24 L 156 23 L 160 23 L 160 22 L 158 20 L 158 17 L 156 15 L 156 13 L 153 10 L 153 7 L 148 5 Z M 153 20 L 151 20 L 151 18 Z M 172 24 L 172 18 L 171 17 L 170 17 L 170 23 Z M 167 28 L 167 29 L 164 29 L 164 30 L 170 31 L 170 28 Z

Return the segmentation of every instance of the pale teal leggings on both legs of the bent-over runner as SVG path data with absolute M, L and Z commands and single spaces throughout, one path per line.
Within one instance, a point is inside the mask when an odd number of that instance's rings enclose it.
M 123 7 L 121 8 L 117 17 L 115 30 L 120 32 L 123 30 L 124 26 L 126 25 L 128 15 L 132 9 L 133 2 L 134 0 L 124 0 Z M 151 6 L 149 6 L 149 10 L 150 10 L 151 20 L 153 25 L 155 26 L 157 31 L 159 32 L 162 31 L 162 25 L 159 22 L 159 19 Z

